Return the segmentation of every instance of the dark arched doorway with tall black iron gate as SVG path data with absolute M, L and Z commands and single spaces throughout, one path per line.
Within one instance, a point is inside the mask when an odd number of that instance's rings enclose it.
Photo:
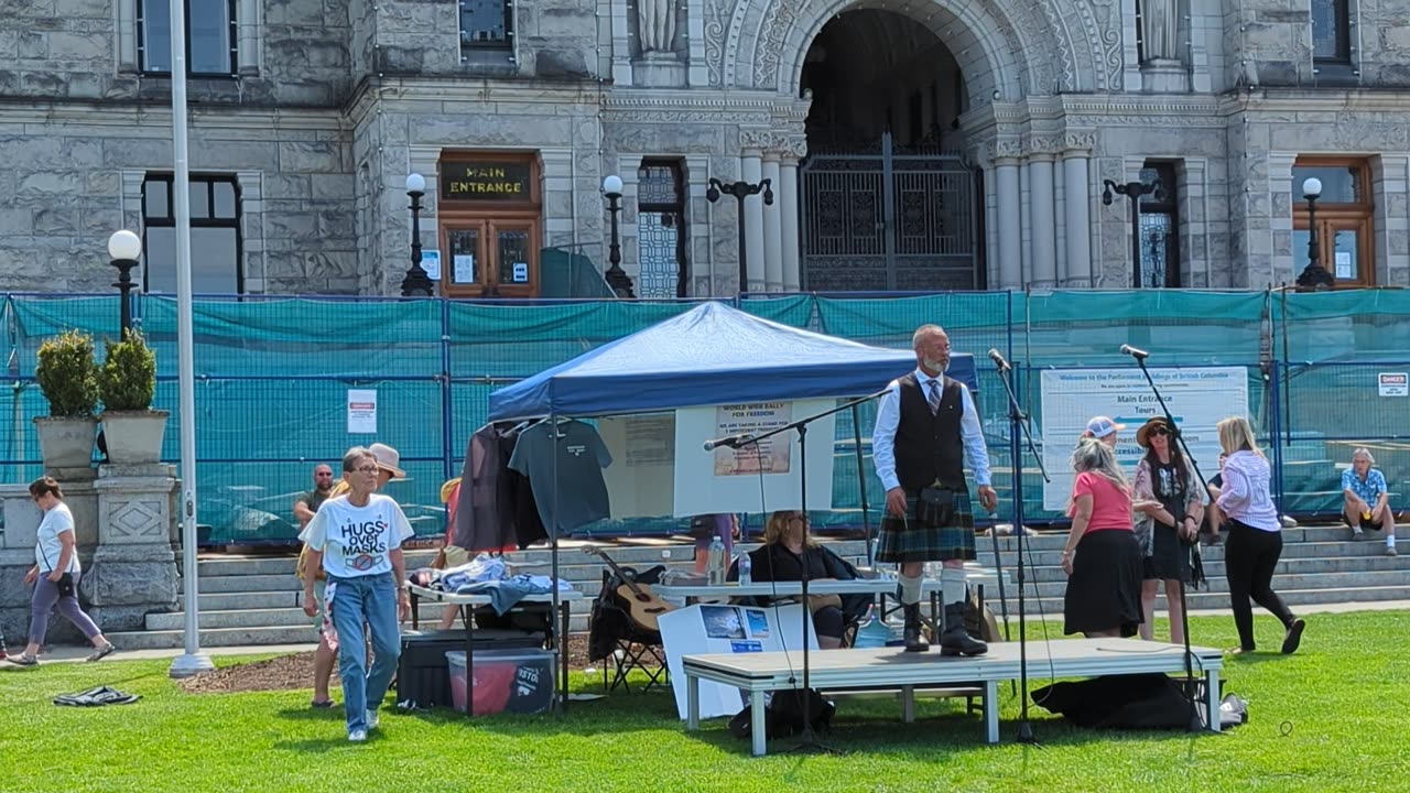
M 969 100 L 945 44 L 904 14 L 847 11 L 814 38 L 801 87 L 804 288 L 984 288 L 979 174 L 960 157 Z

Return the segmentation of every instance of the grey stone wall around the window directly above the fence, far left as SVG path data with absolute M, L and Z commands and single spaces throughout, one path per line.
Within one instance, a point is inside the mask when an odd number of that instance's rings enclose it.
M 141 227 L 142 178 L 171 172 L 169 114 L 0 110 L 0 288 L 110 288 L 107 237 Z M 193 174 L 235 174 L 250 292 L 355 292 L 351 155 L 334 114 L 192 113 Z M 141 278 L 135 271 L 134 278 Z

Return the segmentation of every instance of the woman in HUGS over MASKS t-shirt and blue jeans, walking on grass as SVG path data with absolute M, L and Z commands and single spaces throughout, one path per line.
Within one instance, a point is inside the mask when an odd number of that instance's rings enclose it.
M 367 741 L 378 727 L 378 708 L 396 672 L 402 652 L 400 621 L 410 615 L 406 590 L 406 562 L 402 542 L 412 536 L 396 501 L 376 492 L 378 461 L 361 446 L 343 456 L 343 478 L 348 492 L 324 501 L 299 536 L 309 549 L 310 571 L 320 566 L 327 574 L 324 604 L 340 636 L 361 636 L 364 625 L 372 635 L 372 669 L 367 669 L 367 645 L 350 641 L 338 648 L 343 679 L 343 708 L 348 741 Z M 303 611 L 317 614 L 313 583 L 303 583 Z

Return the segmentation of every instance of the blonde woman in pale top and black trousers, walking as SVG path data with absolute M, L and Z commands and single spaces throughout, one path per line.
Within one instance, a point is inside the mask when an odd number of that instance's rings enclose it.
M 1230 416 L 1215 426 L 1220 430 L 1220 446 L 1228 454 L 1218 505 L 1228 525 L 1224 570 L 1230 580 L 1239 643 L 1238 649 L 1230 652 L 1253 652 L 1253 607 L 1249 605 L 1249 598 L 1272 611 L 1283 624 L 1283 652 L 1296 652 L 1306 624 L 1293 617 L 1272 586 L 1273 569 L 1283 553 L 1283 523 L 1268 488 L 1268 460 L 1258 450 L 1248 419 Z

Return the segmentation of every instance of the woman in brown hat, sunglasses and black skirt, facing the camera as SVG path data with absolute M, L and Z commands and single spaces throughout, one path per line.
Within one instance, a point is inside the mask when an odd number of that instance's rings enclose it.
M 1136 498 L 1146 502 L 1136 521 L 1136 540 L 1145 552 L 1141 583 L 1141 638 L 1155 638 L 1155 595 L 1165 581 L 1165 607 L 1170 614 L 1170 642 L 1184 642 L 1180 581 L 1190 580 L 1190 546 L 1200 531 L 1198 477 L 1165 418 L 1153 418 L 1136 430 L 1136 443 L 1146 450 L 1136 466 Z

